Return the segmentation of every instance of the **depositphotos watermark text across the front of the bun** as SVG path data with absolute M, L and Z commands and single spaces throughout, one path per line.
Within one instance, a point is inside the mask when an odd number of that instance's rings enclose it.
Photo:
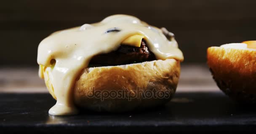
M 88 98 L 101 99 L 127 99 L 131 101 L 132 99 L 167 99 L 171 97 L 170 90 L 157 90 L 153 88 L 152 90 L 143 90 L 139 87 L 136 90 L 129 90 L 129 88 L 122 87 L 120 90 L 96 90 L 95 87 L 89 88 L 87 91 Z

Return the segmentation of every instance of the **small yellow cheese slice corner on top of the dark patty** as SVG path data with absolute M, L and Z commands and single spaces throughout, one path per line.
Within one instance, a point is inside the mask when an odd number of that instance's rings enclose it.
M 121 44 L 140 47 L 143 38 L 144 36 L 142 35 L 133 35 L 126 38 Z

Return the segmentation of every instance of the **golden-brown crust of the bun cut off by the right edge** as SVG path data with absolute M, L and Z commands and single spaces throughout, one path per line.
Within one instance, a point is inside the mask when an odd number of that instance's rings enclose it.
M 256 51 L 209 47 L 207 61 L 225 94 L 238 102 L 256 103 Z

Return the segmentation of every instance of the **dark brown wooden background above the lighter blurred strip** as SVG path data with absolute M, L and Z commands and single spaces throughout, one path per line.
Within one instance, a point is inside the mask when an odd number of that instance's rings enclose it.
M 0 64 L 37 65 L 37 46 L 56 30 L 135 15 L 175 33 L 184 63 L 208 46 L 256 40 L 256 0 L 6 0 L 0 3 Z

